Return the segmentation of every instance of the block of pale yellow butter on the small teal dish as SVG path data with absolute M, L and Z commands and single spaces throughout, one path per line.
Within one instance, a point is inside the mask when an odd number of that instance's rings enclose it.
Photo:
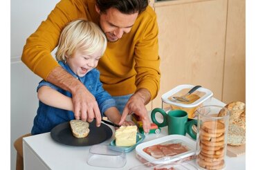
M 116 130 L 116 146 L 131 147 L 136 144 L 137 126 L 120 126 Z

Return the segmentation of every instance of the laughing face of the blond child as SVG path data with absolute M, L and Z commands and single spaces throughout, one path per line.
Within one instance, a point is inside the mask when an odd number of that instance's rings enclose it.
M 84 55 L 80 50 L 77 50 L 72 57 L 66 57 L 66 64 L 68 64 L 73 73 L 83 77 L 98 65 L 100 55 L 100 52 L 96 52 L 93 55 Z

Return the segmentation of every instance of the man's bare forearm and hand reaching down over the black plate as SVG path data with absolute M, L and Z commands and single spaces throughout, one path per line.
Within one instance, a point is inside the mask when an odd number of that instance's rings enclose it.
M 100 126 L 101 115 L 95 97 L 78 79 L 66 72 L 61 66 L 54 68 L 47 77 L 47 81 L 60 86 L 72 93 L 73 111 L 76 120 L 92 122 L 96 119 L 96 126 Z

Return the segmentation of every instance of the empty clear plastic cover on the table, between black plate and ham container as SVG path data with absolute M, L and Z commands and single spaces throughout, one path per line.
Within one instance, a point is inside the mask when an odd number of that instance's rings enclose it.
M 121 168 L 126 161 L 123 149 L 102 144 L 93 145 L 87 158 L 87 163 L 94 167 Z

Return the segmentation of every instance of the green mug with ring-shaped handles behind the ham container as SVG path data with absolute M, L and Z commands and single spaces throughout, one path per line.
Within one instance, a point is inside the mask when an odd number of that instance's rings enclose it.
M 159 123 L 156 120 L 156 113 L 161 113 L 161 115 L 163 115 L 162 123 Z M 165 113 L 161 108 L 154 108 L 151 113 L 151 119 L 152 122 L 159 127 L 168 126 L 169 135 L 185 135 L 185 133 L 188 133 L 191 138 L 196 140 L 196 132 L 192 130 L 192 125 L 197 124 L 197 120 L 188 122 L 188 113 L 185 111 L 174 110 Z

